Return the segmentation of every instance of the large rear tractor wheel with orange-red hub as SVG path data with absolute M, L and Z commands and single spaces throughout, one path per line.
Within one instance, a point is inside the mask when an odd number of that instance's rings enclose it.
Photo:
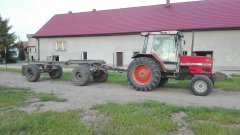
M 140 69 L 141 66 L 143 70 Z M 147 72 L 144 70 L 147 70 Z M 127 71 L 128 82 L 136 90 L 149 91 L 156 88 L 160 82 L 160 68 L 156 61 L 151 58 L 135 58 L 129 64 Z M 137 74 L 138 71 L 140 71 L 139 74 Z M 148 77 L 149 74 L 151 76 L 150 79 Z M 146 81 L 142 83 L 140 82 L 141 79 L 146 79 Z

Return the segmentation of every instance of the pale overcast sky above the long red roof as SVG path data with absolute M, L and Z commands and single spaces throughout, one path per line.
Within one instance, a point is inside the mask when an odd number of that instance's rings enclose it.
M 171 3 L 196 0 L 171 0 Z M 10 25 L 20 40 L 36 33 L 53 15 L 60 13 L 147 6 L 166 0 L 1 0 L 0 15 L 10 19 Z

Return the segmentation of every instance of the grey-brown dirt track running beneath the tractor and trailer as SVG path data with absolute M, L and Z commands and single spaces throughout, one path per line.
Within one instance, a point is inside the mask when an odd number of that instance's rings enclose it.
M 181 106 L 208 106 L 240 109 L 240 92 L 213 90 L 206 97 L 194 96 L 187 89 L 158 88 L 151 92 L 138 92 L 130 86 L 108 83 L 90 83 L 87 86 L 75 86 L 71 82 L 52 81 L 41 78 L 38 82 L 27 82 L 25 77 L 15 73 L 0 72 L 0 85 L 30 88 L 37 92 L 53 92 L 66 98 L 63 103 L 46 102 L 33 104 L 41 110 L 64 111 L 68 109 L 89 108 L 94 104 L 112 102 L 130 102 L 158 100 Z M 44 104 L 44 105 L 42 105 Z

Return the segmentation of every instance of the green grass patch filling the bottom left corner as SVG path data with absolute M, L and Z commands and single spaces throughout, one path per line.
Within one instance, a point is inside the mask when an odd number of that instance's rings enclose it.
M 27 114 L 10 111 L 0 114 L 0 134 L 91 135 L 78 111 Z

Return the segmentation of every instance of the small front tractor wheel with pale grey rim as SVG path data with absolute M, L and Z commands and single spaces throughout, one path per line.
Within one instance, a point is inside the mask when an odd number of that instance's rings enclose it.
M 197 96 L 206 96 L 213 89 L 213 83 L 208 77 L 197 75 L 192 78 L 190 89 Z

